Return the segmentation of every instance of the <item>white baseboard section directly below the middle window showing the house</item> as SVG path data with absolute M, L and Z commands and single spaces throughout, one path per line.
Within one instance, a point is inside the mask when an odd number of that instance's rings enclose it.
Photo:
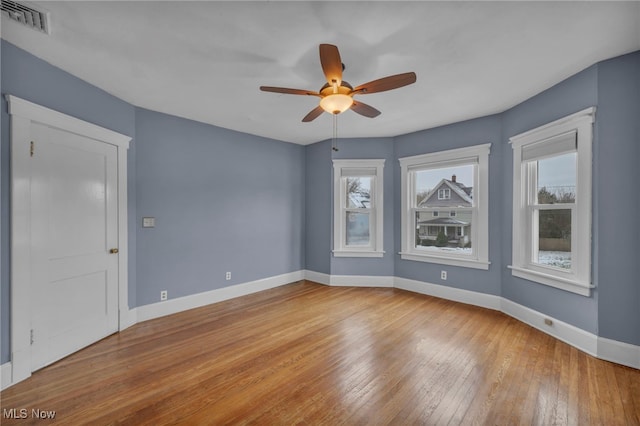
M 454 302 L 466 303 L 468 305 L 480 306 L 497 311 L 500 310 L 500 300 L 502 299 L 500 296 L 400 277 L 395 277 L 394 282 L 395 287 L 402 290 L 440 297 L 442 299 L 453 300 Z

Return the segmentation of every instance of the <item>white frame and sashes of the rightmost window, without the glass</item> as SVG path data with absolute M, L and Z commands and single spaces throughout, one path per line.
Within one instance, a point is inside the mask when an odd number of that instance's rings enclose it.
M 595 107 L 586 108 L 559 120 L 509 138 L 513 148 L 513 233 L 512 265 L 515 277 L 545 284 L 583 296 L 591 296 L 592 229 L 592 149 Z M 563 147 L 565 135 L 575 133 L 575 150 Z M 564 138 L 564 139 L 563 139 Z M 555 144 L 555 145 L 554 145 Z M 527 149 L 538 154 L 523 156 Z M 537 191 L 534 162 L 544 158 L 576 152 L 576 194 L 572 205 L 533 206 Z M 534 188 L 535 187 L 535 188 Z M 550 207 L 553 206 L 553 207 Z M 547 267 L 533 261 L 537 224 L 534 210 L 571 210 L 571 264 L 569 271 Z

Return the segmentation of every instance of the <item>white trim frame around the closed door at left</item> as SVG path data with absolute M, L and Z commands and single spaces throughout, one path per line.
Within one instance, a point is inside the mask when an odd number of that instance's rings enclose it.
M 75 133 L 117 148 L 118 330 L 131 325 L 127 231 L 127 150 L 131 137 L 13 95 L 5 97 L 11 119 L 11 384 L 15 384 L 31 376 L 31 123 Z

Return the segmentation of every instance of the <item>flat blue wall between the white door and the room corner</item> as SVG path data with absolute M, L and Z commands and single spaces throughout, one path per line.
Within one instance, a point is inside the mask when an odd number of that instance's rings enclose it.
M 136 140 L 138 306 L 304 269 L 304 147 L 144 109 Z

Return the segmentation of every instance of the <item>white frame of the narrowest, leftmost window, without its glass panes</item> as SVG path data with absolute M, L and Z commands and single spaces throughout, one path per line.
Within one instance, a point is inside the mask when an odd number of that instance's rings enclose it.
M 384 224 L 384 159 L 333 160 L 333 256 L 334 257 L 383 257 Z M 361 174 L 360 174 L 361 173 Z M 370 177 L 369 208 L 347 206 L 349 177 Z M 357 210 L 369 214 L 369 244 L 347 245 L 347 213 Z

